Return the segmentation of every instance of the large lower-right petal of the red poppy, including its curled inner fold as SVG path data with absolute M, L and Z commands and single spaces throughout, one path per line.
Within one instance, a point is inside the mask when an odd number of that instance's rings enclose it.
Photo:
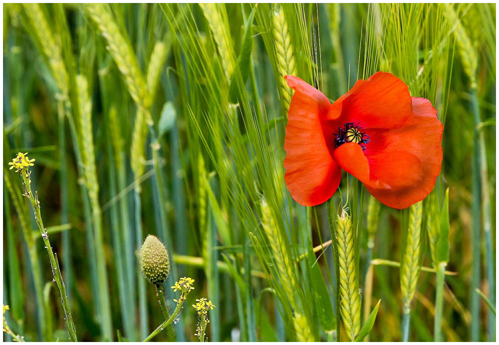
M 412 102 L 413 115 L 401 128 L 369 131 L 371 142 L 365 152 L 353 143 L 335 151 L 344 170 L 359 178 L 379 201 L 393 208 L 406 208 L 423 200 L 432 191 L 441 170 L 443 126 L 437 111 L 425 98 L 413 97 Z M 356 164 L 361 167 L 355 167 Z

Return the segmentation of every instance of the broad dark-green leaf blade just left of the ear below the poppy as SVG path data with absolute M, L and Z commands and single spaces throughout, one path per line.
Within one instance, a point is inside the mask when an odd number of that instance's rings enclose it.
M 315 261 L 315 254 L 310 246 L 308 250 L 308 266 L 310 267 L 310 286 L 313 286 L 312 295 L 315 311 L 320 327 L 324 332 L 331 332 L 336 329 L 336 319 L 324 278 L 319 265 Z

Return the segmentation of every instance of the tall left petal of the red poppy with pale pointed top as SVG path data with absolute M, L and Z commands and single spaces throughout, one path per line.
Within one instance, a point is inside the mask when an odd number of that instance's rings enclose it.
M 284 180 L 299 204 L 314 206 L 327 201 L 341 179 L 341 168 L 332 157 L 332 133 L 323 126 L 331 103 L 300 78 L 287 76 L 286 79 L 295 92 L 284 140 Z

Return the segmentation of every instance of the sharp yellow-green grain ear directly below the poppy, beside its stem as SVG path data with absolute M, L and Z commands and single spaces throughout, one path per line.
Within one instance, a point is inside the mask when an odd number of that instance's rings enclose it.
M 350 341 L 360 331 L 359 281 L 355 270 L 355 245 L 352 220 L 345 210 L 336 217 L 340 273 L 340 311 Z

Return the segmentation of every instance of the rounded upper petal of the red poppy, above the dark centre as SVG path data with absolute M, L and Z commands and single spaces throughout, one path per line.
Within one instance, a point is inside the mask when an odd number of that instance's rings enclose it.
M 367 80 L 358 80 L 333 103 L 327 117 L 363 128 L 398 128 L 411 114 L 407 85 L 391 73 L 377 72 Z

